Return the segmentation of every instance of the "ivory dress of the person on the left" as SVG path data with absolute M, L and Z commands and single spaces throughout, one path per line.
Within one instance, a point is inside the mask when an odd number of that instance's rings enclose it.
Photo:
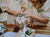
M 3 4 L 2 9 L 4 7 L 4 11 L 11 9 L 20 12 L 21 8 L 26 7 L 27 3 L 24 0 L 1 0 L 1 4 Z M 13 15 L 8 14 L 7 18 L 7 24 L 15 24 Z

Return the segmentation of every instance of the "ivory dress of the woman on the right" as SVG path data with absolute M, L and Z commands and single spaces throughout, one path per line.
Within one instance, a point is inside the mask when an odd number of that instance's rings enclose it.
M 30 11 L 31 13 L 37 15 L 37 16 L 40 16 L 40 17 L 44 17 L 46 18 L 47 20 L 49 20 L 49 22 L 47 24 L 43 24 L 43 23 L 40 23 L 38 21 L 36 21 L 35 19 L 33 24 L 34 25 L 39 25 L 39 26 L 45 26 L 45 25 L 50 25 L 50 0 L 47 0 L 46 3 L 44 4 L 44 6 L 42 6 L 42 8 L 44 9 L 43 12 L 38 12 L 37 9 L 34 7 L 34 4 L 31 4 L 28 0 L 28 8 L 27 10 Z

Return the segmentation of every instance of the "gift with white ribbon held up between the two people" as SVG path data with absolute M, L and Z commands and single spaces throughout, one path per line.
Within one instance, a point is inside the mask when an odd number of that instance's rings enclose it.
M 27 18 L 24 18 L 24 16 L 21 17 L 21 15 L 15 18 L 15 23 L 19 28 L 23 28 L 24 25 L 28 25 L 29 22 L 30 20 L 28 20 Z

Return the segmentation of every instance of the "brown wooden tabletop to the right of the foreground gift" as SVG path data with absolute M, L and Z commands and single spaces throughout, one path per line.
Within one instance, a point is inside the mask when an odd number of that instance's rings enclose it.
M 35 26 L 33 29 L 35 29 L 35 33 L 37 34 L 48 34 L 50 35 L 50 26 L 45 26 L 45 27 L 39 27 Z

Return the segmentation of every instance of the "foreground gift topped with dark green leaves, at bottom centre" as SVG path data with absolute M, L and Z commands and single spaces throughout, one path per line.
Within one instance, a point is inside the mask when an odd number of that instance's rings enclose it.
M 20 30 L 15 37 L 33 37 L 35 34 L 35 30 L 31 28 L 26 28 L 25 35 L 23 36 L 23 30 Z

